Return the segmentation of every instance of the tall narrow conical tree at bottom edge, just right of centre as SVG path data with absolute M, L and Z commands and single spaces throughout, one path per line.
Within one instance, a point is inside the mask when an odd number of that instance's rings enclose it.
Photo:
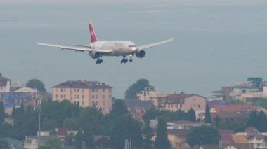
M 163 119 L 158 120 L 155 148 L 170 148 L 170 143 L 167 136 L 167 125 Z

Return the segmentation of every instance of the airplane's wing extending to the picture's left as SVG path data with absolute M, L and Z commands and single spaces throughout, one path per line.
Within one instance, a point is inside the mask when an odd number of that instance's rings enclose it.
M 74 51 L 80 51 L 80 52 L 85 52 L 85 51 L 92 51 L 90 46 L 86 45 L 53 45 L 53 44 L 48 44 L 48 43 L 37 43 L 38 45 L 45 45 L 49 47 L 56 47 L 56 48 L 61 48 L 66 49 L 66 50 L 74 50 Z M 110 53 L 112 52 L 111 50 L 94 50 L 98 52 L 103 52 L 103 53 Z

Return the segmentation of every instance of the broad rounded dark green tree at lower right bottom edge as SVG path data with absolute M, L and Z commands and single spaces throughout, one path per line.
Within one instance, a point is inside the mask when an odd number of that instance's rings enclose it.
M 187 135 L 187 142 L 190 146 L 202 144 L 218 144 L 220 134 L 218 129 L 211 126 L 195 127 Z

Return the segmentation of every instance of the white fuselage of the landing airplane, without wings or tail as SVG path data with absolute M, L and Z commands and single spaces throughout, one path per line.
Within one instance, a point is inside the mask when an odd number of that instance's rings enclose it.
M 91 43 L 92 50 L 112 51 L 106 56 L 126 56 L 133 55 L 136 52 L 136 44 L 131 41 L 96 41 Z

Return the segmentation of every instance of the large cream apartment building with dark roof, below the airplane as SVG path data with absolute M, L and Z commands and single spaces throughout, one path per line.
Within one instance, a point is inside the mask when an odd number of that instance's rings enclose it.
M 82 107 L 96 106 L 103 114 L 112 108 L 112 87 L 96 81 L 69 80 L 52 87 L 53 101 L 68 100 Z

